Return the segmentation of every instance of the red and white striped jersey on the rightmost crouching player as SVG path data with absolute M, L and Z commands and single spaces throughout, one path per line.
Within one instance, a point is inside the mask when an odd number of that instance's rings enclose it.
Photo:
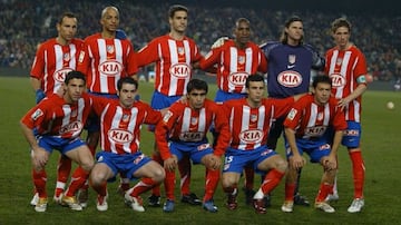
M 334 131 L 346 129 L 344 111 L 338 107 L 334 97 L 329 99 L 324 106 L 315 104 L 312 94 L 301 97 L 294 102 L 284 127 L 296 131 L 296 137 L 311 138 L 322 137 L 329 127 Z

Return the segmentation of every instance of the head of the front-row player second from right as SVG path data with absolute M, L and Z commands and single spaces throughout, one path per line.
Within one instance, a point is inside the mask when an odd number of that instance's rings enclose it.
M 251 75 L 245 81 L 247 101 L 252 106 L 258 106 L 265 91 L 265 81 L 262 75 Z

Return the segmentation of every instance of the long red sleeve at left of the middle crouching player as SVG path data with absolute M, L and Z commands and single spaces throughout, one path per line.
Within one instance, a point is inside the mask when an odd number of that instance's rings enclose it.
M 173 104 L 155 129 L 155 138 L 163 160 L 172 157 L 168 148 L 168 136 L 180 115 L 177 109 L 178 104 Z

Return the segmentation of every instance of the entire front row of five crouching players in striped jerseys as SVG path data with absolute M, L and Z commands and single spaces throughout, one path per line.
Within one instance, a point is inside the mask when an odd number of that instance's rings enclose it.
M 192 79 L 185 98 L 158 111 L 135 100 L 138 82 L 130 77 L 118 81 L 118 99 L 107 99 L 86 94 L 85 76 L 79 71 L 70 71 L 62 86 L 63 91 L 59 91 L 63 94 L 46 98 L 30 109 L 20 123 L 31 147 L 32 179 L 39 194 L 35 209 L 47 209 L 45 167 L 52 150 L 57 149 L 79 165 L 60 203 L 74 211 L 82 209 L 76 194 L 87 178 L 98 194 L 97 209 L 107 211 L 106 184 L 114 180 L 117 174 L 123 174 L 127 178 L 140 178 L 125 194 L 126 204 L 134 211 L 144 212 L 140 194 L 164 182 L 167 198 L 164 211 L 173 212 L 175 169 L 178 162 L 188 156 L 194 164 L 206 167 L 204 209 L 217 212 L 213 195 L 219 179 L 227 195 L 227 208 L 237 208 L 241 174 L 246 166 L 252 166 L 264 177 L 253 196 L 255 212 L 266 213 L 264 197 L 280 184 L 286 173 L 282 211 L 292 212 L 296 170 L 305 165 L 302 157 L 305 151 L 312 163 L 320 163 L 324 168 L 315 208 L 333 213 L 334 208 L 324 199 L 333 188 L 336 151 L 346 123 L 344 113 L 330 95 L 331 85 L 327 76 L 317 76 L 311 94 L 272 99 L 264 97 L 264 77 L 253 75 L 246 80 L 245 98 L 216 105 L 206 99 L 207 84 Z M 91 110 L 101 118 L 101 151 L 96 155 L 96 164 L 80 138 Z M 266 146 L 271 121 L 283 115 L 287 115 L 284 126 L 288 160 Z M 143 124 L 156 125 L 155 138 L 164 168 L 140 151 Z M 206 137 L 212 125 L 219 134 L 213 147 Z

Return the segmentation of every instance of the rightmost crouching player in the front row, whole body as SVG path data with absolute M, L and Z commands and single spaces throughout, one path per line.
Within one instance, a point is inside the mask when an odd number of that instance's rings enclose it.
M 306 153 L 311 163 L 320 163 L 324 172 L 314 206 L 326 213 L 334 213 L 325 198 L 333 189 L 338 168 L 336 154 L 346 121 L 338 100 L 331 96 L 331 89 L 332 80 L 327 76 L 316 76 L 312 84 L 313 94 L 301 97 L 284 120 L 288 172 L 283 212 L 293 212 L 297 169 L 304 167 L 306 162 L 302 155 Z

